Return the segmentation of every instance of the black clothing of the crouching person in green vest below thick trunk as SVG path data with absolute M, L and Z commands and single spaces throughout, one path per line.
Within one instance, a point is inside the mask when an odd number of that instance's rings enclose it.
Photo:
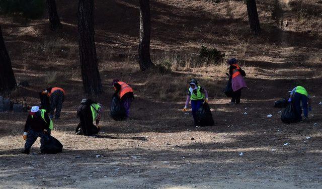
M 90 106 L 79 106 L 77 110 L 77 115 L 79 117 L 80 123 L 76 128 L 76 134 L 91 136 L 97 134 L 100 131 L 100 129 L 93 124 L 93 116 Z

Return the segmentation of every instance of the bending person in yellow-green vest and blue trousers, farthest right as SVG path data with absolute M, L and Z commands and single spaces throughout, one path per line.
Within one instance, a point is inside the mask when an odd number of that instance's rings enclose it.
M 301 102 L 302 102 L 304 121 L 309 122 L 308 111 L 312 111 L 311 98 L 303 86 L 296 86 L 295 88 L 293 88 L 293 90 L 291 91 L 290 98 L 288 99 L 288 102 L 289 103 L 293 102 L 295 115 L 299 122 L 302 121 L 302 109 L 301 109 Z M 308 108 L 307 108 L 307 105 L 308 105 Z

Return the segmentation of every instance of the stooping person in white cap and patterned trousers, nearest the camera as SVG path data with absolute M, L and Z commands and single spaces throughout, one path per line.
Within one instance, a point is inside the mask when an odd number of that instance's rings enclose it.
M 30 153 L 31 146 L 40 137 L 40 150 L 45 142 L 45 137 L 50 135 L 50 131 L 53 129 L 53 123 L 49 118 L 46 110 L 39 110 L 38 106 L 31 108 L 31 112 L 27 118 L 25 124 L 25 130 L 23 138 L 26 140 L 24 154 Z

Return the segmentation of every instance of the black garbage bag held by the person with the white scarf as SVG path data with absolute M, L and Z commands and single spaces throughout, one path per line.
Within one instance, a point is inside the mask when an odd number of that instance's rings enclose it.
M 208 103 L 204 103 L 197 111 L 196 124 L 200 127 L 213 126 L 214 122 Z

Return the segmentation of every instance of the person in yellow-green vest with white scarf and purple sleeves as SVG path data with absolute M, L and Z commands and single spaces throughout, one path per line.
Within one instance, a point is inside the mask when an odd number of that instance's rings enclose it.
M 187 101 L 184 112 L 187 111 L 189 102 L 191 100 L 191 112 L 194 119 L 194 126 L 197 126 L 197 111 L 201 105 L 205 102 L 208 103 L 208 92 L 206 89 L 198 85 L 197 79 L 192 79 L 189 83 L 190 87 L 188 89 Z

